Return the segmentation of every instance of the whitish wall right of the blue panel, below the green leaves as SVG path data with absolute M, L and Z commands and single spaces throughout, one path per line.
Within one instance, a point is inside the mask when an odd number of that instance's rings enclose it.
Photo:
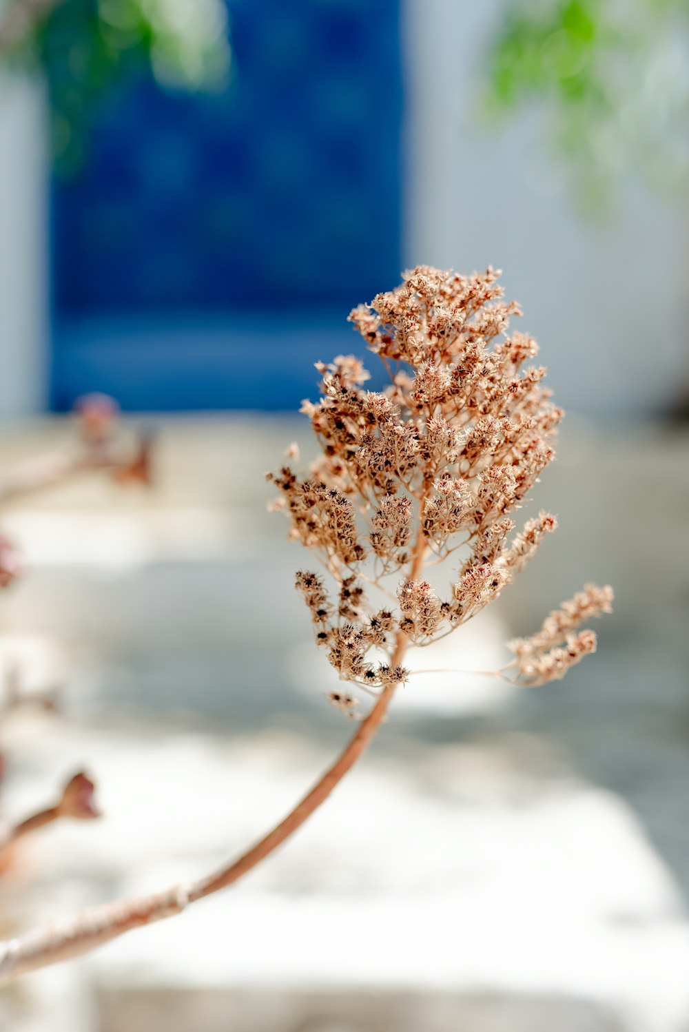
M 626 413 L 689 385 L 687 220 L 629 191 L 605 224 L 575 212 L 537 117 L 482 127 L 478 85 L 505 0 L 405 0 L 409 111 L 405 262 L 504 270 L 557 399 Z

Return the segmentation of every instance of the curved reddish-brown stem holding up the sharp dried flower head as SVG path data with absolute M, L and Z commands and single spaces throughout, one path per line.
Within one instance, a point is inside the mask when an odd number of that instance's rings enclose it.
M 411 579 L 419 576 L 425 550 L 426 539 L 420 523 L 412 552 Z M 407 645 L 406 636 L 401 631 L 398 632 L 391 656 L 393 667 L 401 663 Z M 395 684 L 389 684 L 383 689 L 368 716 L 361 721 L 343 751 L 320 781 L 284 820 L 238 860 L 191 884 L 176 885 L 139 899 L 120 900 L 92 907 L 68 922 L 38 928 L 20 938 L 0 943 L 0 982 L 9 981 L 48 964 L 78 957 L 134 928 L 179 913 L 188 903 L 203 899 L 232 884 L 293 835 L 328 798 L 380 728 L 395 688 Z

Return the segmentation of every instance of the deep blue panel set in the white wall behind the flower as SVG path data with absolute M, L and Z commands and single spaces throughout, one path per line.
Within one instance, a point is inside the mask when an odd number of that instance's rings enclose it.
M 84 388 L 127 408 L 290 407 L 257 389 L 264 327 L 289 362 L 319 333 L 315 357 L 356 349 L 350 308 L 398 280 L 397 0 L 229 10 L 227 91 L 129 82 L 99 105 L 84 166 L 54 184 L 57 409 Z M 242 349 L 257 384 L 224 393 Z

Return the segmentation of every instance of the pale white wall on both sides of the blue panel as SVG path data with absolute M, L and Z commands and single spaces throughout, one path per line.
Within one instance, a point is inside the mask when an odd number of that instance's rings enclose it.
M 503 268 L 566 407 L 662 408 L 689 383 L 688 220 L 639 191 L 617 221 L 587 224 L 545 154 L 538 119 L 482 127 L 478 84 L 503 2 L 403 0 L 404 262 Z M 45 404 L 46 140 L 41 85 L 0 78 L 0 419 Z

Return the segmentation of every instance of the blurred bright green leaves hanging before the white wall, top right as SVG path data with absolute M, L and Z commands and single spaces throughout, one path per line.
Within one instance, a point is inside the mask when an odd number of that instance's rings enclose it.
M 688 0 L 502 0 L 487 106 L 539 105 L 589 205 L 629 174 L 675 190 L 689 171 L 688 60 Z

